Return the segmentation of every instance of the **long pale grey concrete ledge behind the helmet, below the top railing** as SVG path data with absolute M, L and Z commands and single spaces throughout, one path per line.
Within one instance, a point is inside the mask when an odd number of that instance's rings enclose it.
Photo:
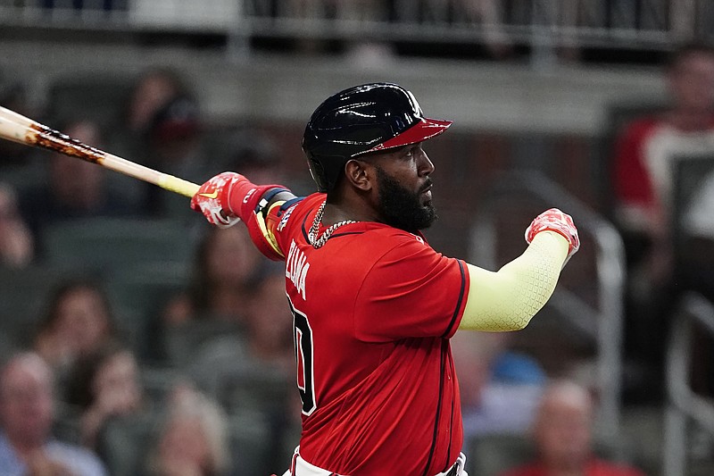
M 215 51 L 65 42 L 0 43 L 0 72 L 26 81 L 41 104 L 55 78 L 131 78 L 150 65 L 179 68 L 215 119 L 263 118 L 303 123 L 328 94 L 375 80 L 410 88 L 428 115 L 454 129 L 597 135 L 608 104 L 661 99 L 652 69 L 419 61 L 359 56 L 252 56 Z

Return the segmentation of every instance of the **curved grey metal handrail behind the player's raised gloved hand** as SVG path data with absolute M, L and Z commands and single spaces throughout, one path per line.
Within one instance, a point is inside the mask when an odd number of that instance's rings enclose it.
M 494 269 L 497 236 L 496 213 L 500 205 L 522 203 L 524 199 L 558 204 L 577 217 L 581 234 L 592 237 L 595 255 L 597 304 L 590 305 L 563 286 L 556 288 L 548 306 L 553 306 L 577 330 L 591 338 L 597 348 L 597 387 L 600 392 L 599 430 L 617 435 L 620 419 L 621 343 L 625 252 L 619 232 L 589 207 L 552 180 L 535 171 L 513 171 L 498 180 L 474 218 L 470 257 Z

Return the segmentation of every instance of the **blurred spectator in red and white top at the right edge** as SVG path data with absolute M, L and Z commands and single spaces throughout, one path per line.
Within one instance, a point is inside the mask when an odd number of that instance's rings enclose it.
M 662 113 L 627 124 L 613 162 L 615 217 L 625 238 L 629 271 L 625 347 L 643 375 L 637 380 L 643 397 L 661 394 L 666 319 L 676 302 L 673 161 L 714 152 L 714 50 L 683 46 L 673 54 L 666 78 L 671 104 Z

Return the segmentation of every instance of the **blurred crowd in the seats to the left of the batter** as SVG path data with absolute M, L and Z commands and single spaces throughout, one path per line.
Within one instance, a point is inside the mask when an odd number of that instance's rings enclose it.
M 284 181 L 270 140 L 236 128 L 212 136 L 193 91 L 170 69 L 143 71 L 104 117 L 81 107 L 33 111 L 21 85 L 3 93 L 14 111 L 183 179 L 242 170 Z M 186 197 L 62 154 L 5 141 L 0 149 L 0 273 L 11 283 L 37 273 L 29 286 L 39 301 L 16 303 L 32 313 L 3 326 L 0 473 L 282 473 L 300 424 L 282 269 L 241 227 L 204 224 Z M 138 259 L 112 249 L 121 228 L 103 231 L 110 222 L 129 228 L 138 246 L 138 227 L 161 234 L 171 223 L 170 240 L 187 245 L 161 243 L 170 262 Z M 58 230 L 76 224 L 114 241 L 93 254 L 64 230 L 69 242 L 58 245 Z M 73 249 L 84 259 L 68 259 Z M 136 278 L 137 264 L 162 277 L 119 296 L 110 281 Z M 12 290 L 3 291 L 5 315 Z

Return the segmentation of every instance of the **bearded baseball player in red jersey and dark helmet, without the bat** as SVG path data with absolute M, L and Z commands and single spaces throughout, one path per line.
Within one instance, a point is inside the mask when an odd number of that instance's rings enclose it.
M 577 229 L 556 209 L 497 272 L 428 246 L 419 230 L 436 218 L 434 164 L 422 145 L 450 125 L 398 85 L 348 88 L 304 132 L 318 193 L 223 172 L 192 199 L 215 225 L 244 221 L 264 255 L 286 262 L 303 401 L 286 475 L 466 475 L 449 338 L 524 328 L 577 252 Z

